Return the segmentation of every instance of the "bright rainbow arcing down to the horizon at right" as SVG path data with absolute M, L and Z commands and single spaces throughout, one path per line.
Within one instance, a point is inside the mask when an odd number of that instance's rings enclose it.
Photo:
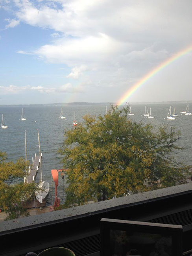
M 133 85 L 131 88 L 129 88 L 126 93 L 118 100 L 117 105 L 122 105 L 126 103 L 127 99 L 137 91 L 137 89 L 142 86 L 144 83 L 146 83 L 151 77 L 155 76 L 160 70 L 164 69 L 166 66 L 168 66 L 170 63 L 174 62 L 175 60 L 181 58 L 183 55 L 187 54 L 188 52 L 192 51 L 192 45 L 188 46 L 187 48 L 177 52 L 169 59 L 166 59 L 166 61 L 162 62 L 159 66 L 155 67 L 155 69 L 151 70 L 146 76 L 142 77 L 135 85 Z

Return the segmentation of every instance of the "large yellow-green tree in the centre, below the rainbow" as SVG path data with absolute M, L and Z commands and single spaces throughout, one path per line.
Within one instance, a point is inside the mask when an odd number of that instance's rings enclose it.
M 166 126 L 154 131 L 128 119 L 129 106 L 111 106 L 97 119 L 87 115 L 83 124 L 65 132 L 59 150 L 68 168 L 66 206 L 89 200 L 121 197 L 174 186 L 185 179 L 188 167 L 176 161 L 180 132 Z

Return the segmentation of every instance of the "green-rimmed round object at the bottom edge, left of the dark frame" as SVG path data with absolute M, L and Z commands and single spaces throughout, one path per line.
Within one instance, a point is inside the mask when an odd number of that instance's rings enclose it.
M 64 247 L 53 247 L 40 252 L 38 256 L 75 256 L 75 254 L 72 250 Z

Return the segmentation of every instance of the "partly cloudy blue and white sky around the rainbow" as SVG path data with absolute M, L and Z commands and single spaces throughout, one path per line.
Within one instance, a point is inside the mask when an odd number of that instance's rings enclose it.
M 192 46 L 191 0 L 0 0 L 0 105 L 119 102 Z M 192 100 L 192 52 L 126 102 Z

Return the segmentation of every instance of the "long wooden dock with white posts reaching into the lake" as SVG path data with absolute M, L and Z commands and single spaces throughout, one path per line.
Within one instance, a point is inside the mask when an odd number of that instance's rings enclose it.
M 42 158 L 42 153 L 41 153 L 41 158 Z M 24 177 L 24 183 L 31 183 L 35 181 L 36 175 L 39 171 L 40 168 L 40 159 L 37 154 L 35 154 L 35 158 L 32 158 L 32 166 L 29 167 L 29 170 L 27 171 L 27 174 Z

